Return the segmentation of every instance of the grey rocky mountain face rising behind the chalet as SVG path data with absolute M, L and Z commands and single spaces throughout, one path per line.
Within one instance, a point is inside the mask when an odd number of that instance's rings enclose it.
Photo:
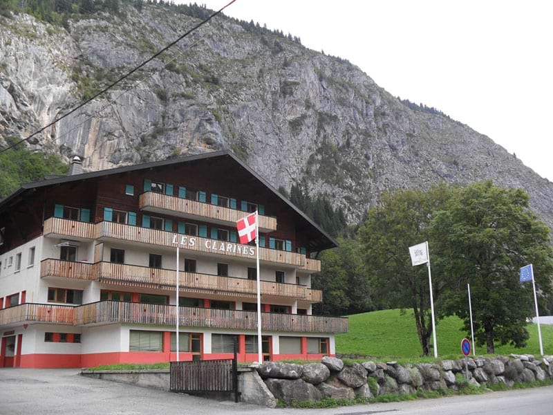
M 66 113 L 198 19 L 122 6 L 120 16 L 0 17 L 0 145 Z M 523 139 L 523 138 L 521 138 Z M 553 226 L 553 184 L 487 136 L 397 100 L 356 66 L 216 17 L 30 147 L 88 170 L 229 148 L 275 187 L 305 181 L 357 221 L 388 189 L 487 178 L 523 187 Z

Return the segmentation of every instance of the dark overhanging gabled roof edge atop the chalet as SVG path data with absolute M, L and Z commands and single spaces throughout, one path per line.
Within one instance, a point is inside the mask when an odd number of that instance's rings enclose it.
M 54 178 L 48 178 L 41 181 L 36 181 L 32 183 L 25 183 L 24 185 L 21 185 L 21 187 L 6 197 L 6 199 L 3 199 L 0 201 L 0 211 L 5 209 L 6 206 L 11 202 L 15 201 L 18 196 L 25 196 L 26 193 L 32 192 L 32 190 L 35 190 L 39 187 L 47 187 L 52 185 L 59 185 L 63 183 L 71 183 L 74 181 L 82 181 L 87 180 L 90 178 L 99 178 L 99 177 L 105 177 L 105 176 L 111 176 L 114 174 L 121 174 L 121 173 L 127 173 L 127 172 L 135 172 L 138 170 L 144 170 L 144 169 L 152 169 L 156 167 L 164 167 L 169 165 L 176 165 L 180 163 L 189 163 L 194 160 L 203 160 L 208 158 L 216 158 L 216 157 L 229 157 L 234 162 L 238 163 L 241 167 L 243 167 L 247 172 L 249 172 L 254 178 L 256 178 L 257 181 L 259 181 L 262 185 L 265 187 L 268 187 L 268 189 L 273 192 L 275 195 L 277 195 L 282 201 L 284 201 L 290 208 L 292 208 L 299 216 L 301 216 L 302 219 L 307 221 L 309 225 L 311 225 L 319 234 L 321 234 L 320 238 L 317 238 L 317 247 L 319 249 L 327 249 L 327 248 L 334 248 L 335 246 L 338 246 L 337 241 L 330 237 L 328 233 L 326 233 L 324 230 L 321 229 L 317 223 L 312 221 L 312 219 L 309 218 L 305 213 L 301 212 L 297 208 L 296 205 L 294 205 L 292 202 L 290 202 L 285 196 L 283 196 L 278 190 L 276 190 L 272 185 L 270 185 L 267 181 L 265 181 L 264 178 L 259 176 L 250 166 L 245 164 L 242 160 L 240 160 L 238 157 L 232 153 L 232 151 L 223 150 L 223 151 L 212 151 L 209 153 L 204 154 L 194 154 L 192 156 L 185 156 L 185 157 L 178 157 L 178 158 L 171 158 L 169 160 L 160 160 L 160 161 L 153 161 L 151 163 L 142 163 L 138 165 L 130 165 L 130 166 L 124 166 L 124 167 L 115 167 L 113 169 L 106 169 L 106 170 L 99 170 L 97 172 L 89 172 L 89 173 L 82 173 L 82 174 L 74 174 L 72 176 L 57 176 Z

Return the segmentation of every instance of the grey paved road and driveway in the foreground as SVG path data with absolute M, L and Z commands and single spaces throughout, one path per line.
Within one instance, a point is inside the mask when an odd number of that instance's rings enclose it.
M 83 378 L 69 369 L 0 369 L 0 414 L 550 415 L 553 386 L 336 409 L 267 409 Z

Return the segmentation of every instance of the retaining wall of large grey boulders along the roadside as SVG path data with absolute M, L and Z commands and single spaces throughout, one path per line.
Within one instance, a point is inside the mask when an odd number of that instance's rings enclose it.
M 512 387 L 516 382 L 553 379 L 553 356 L 532 355 L 468 358 L 469 384 Z M 293 401 L 323 398 L 372 398 L 383 394 L 412 394 L 418 390 L 458 390 L 467 385 L 465 359 L 439 363 L 399 365 L 397 362 L 355 363 L 344 366 L 339 358 L 324 357 L 320 363 L 265 362 L 257 372 L 274 398 L 290 405 Z M 265 398 L 266 399 L 266 398 Z M 276 402 L 276 401 L 275 401 Z M 268 406 L 274 407 L 272 400 Z

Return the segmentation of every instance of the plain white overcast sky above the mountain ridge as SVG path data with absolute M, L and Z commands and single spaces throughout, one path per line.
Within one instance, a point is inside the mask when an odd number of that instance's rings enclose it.
M 553 181 L 553 1 L 236 0 L 225 14 L 348 59 Z

